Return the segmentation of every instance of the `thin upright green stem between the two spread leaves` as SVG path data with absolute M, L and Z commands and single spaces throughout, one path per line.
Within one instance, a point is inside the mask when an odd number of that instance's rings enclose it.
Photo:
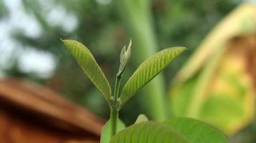
M 113 137 L 117 131 L 117 123 L 118 123 L 118 97 L 119 97 L 119 87 L 120 87 L 120 76 L 115 78 L 115 92 L 114 92 L 114 100 L 112 107 L 110 109 L 110 136 Z

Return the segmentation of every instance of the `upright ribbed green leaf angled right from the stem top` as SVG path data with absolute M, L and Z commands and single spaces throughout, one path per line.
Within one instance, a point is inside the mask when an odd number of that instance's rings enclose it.
M 151 81 L 161 70 L 163 70 L 171 61 L 184 51 L 185 47 L 173 47 L 163 49 L 151 58 L 144 61 L 134 72 L 120 95 L 121 106 L 133 97 L 139 89 Z

